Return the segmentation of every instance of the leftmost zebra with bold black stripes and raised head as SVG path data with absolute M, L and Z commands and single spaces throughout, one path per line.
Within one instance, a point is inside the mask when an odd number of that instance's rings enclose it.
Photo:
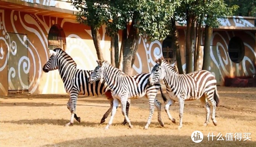
M 77 96 L 79 94 L 86 96 L 99 96 L 101 94 L 106 95 L 110 103 L 110 107 L 101 118 L 100 123 L 104 123 L 113 107 L 113 97 L 111 96 L 111 91 L 104 80 L 89 84 L 88 77 L 93 71 L 77 69 L 76 66 L 76 62 L 61 48 L 50 50 L 50 58 L 43 66 L 43 71 L 46 73 L 51 70 L 59 69 L 65 90 L 70 96 L 67 102 L 67 107 L 71 112 L 71 118 L 69 123 L 64 126 L 72 126 L 74 123 L 74 118 L 79 123 L 81 121 L 81 118 L 77 117 L 75 113 Z M 127 115 L 129 112 L 129 106 L 130 103 L 127 101 Z M 125 120 L 123 124 L 126 124 Z

